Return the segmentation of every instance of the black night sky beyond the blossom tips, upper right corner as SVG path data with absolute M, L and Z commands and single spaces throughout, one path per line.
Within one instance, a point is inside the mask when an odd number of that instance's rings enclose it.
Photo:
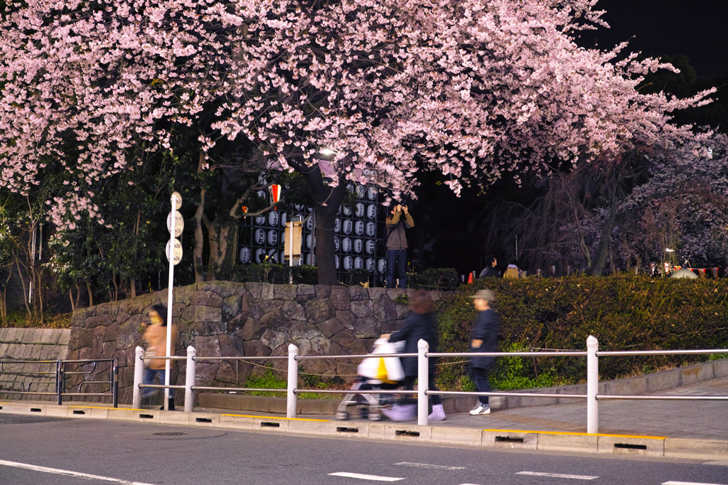
M 698 76 L 728 70 L 728 1 L 600 0 L 609 29 L 582 33 L 579 44 L 602 49 L 629 41 L 649 57 L 686 55 Z

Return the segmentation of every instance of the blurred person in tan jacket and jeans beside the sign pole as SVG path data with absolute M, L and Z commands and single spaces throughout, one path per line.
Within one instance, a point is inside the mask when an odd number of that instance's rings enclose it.
M 164 315 L 164 316 L 162 316 Z M 144 352 L 145 357 L 159 357 L 167 355 L 167 308 L 163 304 L 155 304 L 149 310 L 149 320 L 151 323 L 146 327 L 144 331 L 144 340 L 149 344 Z M 171 352 L 174 355 L 175 352 L 175 326 L 172 326 L 172 343 Z M 154 378 L 159 379 L 159 384 L 165 384 L 165 363 L 164 359 L 149 359 L 144 360 L 144 379 L 143 383 L 150 385 L 154 384 Z M 163 391 L 163 390 L 162 390 Z M 142 397 L 150 398 L 157 390 L 154 387 L 143 387 Z M 175 410 L 174 390 L 170 389 L 170 399 L 168 401 L 167 409 L 170 411 Z M 163 395 L 163 394 L 162 394 Z M 165 409 L 162 406 L 160 409 Z

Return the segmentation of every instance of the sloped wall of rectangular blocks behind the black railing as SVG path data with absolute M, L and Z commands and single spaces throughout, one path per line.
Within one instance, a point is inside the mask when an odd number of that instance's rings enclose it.
M 68 355 L 69 328 L 0 328 L 1 360 L 63 360 Z M 55 363 L 0 363 L 0 390 L 55 392 Z M 41 374 L 51 372 L 52 374 Z M 53 381 L 50 383 L 48 381 Z M 52 396 L 0 393 L 0 399 L 40 400 Z

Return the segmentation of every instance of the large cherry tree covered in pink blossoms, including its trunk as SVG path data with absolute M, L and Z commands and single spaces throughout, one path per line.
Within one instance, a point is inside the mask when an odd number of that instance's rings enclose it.
M 336 283 L 333 223 L 345 181 L 411 194 L 417 170 L 456 192 L 510 172 L 677 146 L 695 98 L 643 95 L 670 68 L 574 33 L 604 25 L 596 0 L 31 0 L 1 23 L 2 184 L 66 172 L 57 224 L 100 180 L 197 129 L 208 153 L 244 136 L 309 184 L 320 283 Z M 201 123 L 202 117 L 207 122 Z M 323 154 L 322 151 L 325 150 Z M 204 165 L 204 164 L 203 164 Z

